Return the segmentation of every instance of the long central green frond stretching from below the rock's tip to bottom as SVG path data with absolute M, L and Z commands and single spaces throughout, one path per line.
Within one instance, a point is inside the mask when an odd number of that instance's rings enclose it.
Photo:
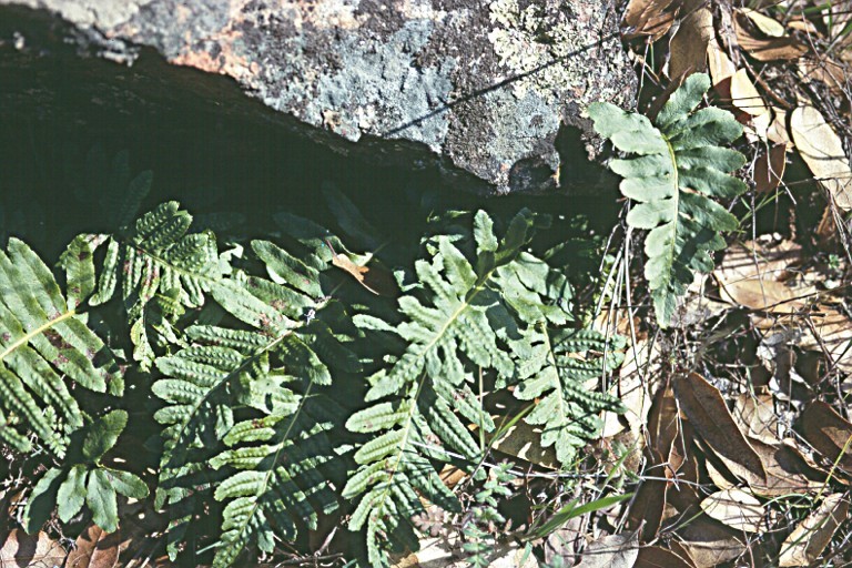
M 446 447 L 476 463 L 481 448 L 462 417 L 486 430 L 494 428 L 469 385 L 475 369 L 511 378 L 516 362 L 510 343 L 521 341 L 529 321 L 542 317 L 534 304 L 546 304 L 544 297 L 531 302 L 538 292 L 525 284 L 527 271 L 540 267 L 540 261 L 523 253 L 538 223 L 525 210 L 498 240 L 491 219 L 478 212 L 474 263 L 449 236 L 432 237 L 427 242 L 432 257 L 415 264 L 419 285 L 398 300 L 403 322 L 392 325 L 356 316 L 364 329 L 390 333 L 407 344 L 389 368 L 369 378 L 366 400 L 375 404 L 346 423 L 351 432 L 371 436 L 355 453 L 359 468 L 349 477 L 343 497 L 358 499 L 349 528 L 366 527 L 374 566 L 386 562 L 379 546 L 385 541 L 396 549 L 417 548 L 410 517 L 423 510 L 422 497 L 446 510 L 459 508 L 430 459 L 446 460 Z M 558 288 L 547 274 L 544 282 Z M 557 321 L 566 316 L 564 311 L 560 316 L 549 314 Z

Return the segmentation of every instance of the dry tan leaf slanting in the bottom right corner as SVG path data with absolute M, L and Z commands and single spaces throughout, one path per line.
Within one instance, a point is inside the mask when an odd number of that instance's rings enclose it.
M 810 566 L 815 562 L 841 523 L 849 515 L 849 501 L 843 494 L 825 497 L 820 506 L 797 526 L 781 545 L 779 566 Z

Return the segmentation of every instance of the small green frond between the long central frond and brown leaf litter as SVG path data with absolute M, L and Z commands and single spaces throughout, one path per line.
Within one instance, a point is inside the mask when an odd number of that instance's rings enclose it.
M 541 446 L 554 446 L 564 466 L 600 434 L 602 410 L 623 412 L 618 398 L 588 387 L 590 381 L 618 367 L 623 344 L 619 336 L 608 339 L 591 329 L 552 329 L 544 323 L 515 344 L 523 362 L 515 396 L 540 399 L 524 422 L 544 426 Z

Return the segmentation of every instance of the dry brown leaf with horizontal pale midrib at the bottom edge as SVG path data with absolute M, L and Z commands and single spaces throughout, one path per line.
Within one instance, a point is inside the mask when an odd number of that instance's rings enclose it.
M 747 547 L 740 539 L 742 532 L 726 527 L 707 515 L 699 515 L 680 529 L 680 548 L 697 568 L 712 568 L 739 558 Z M 676 547 L 671 547 L 676 550 Z

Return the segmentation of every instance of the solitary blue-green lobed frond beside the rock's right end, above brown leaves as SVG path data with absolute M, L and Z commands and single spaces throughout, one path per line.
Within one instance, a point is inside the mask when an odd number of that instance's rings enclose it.
M 696 272 L 713 267 L 710 254 L 724 247 L 720 233 L 737 229 L 737 219 L 714 199 L 731 199 L 747 186 L 729 175 L 746 158 L 722 144 L 742 134 L 733 115 L 713 106 L 696 111 L 710 88 L 707 74 L 694 73 L 674 91 L 651 122 L 610 103 L 592 103 L 595 130 L 636 158 L 612 160 L 621 175 L 621 193 L 636 202 L 630 226 L 650 231 L 645 241 L 657 320 L 667 326 Z

